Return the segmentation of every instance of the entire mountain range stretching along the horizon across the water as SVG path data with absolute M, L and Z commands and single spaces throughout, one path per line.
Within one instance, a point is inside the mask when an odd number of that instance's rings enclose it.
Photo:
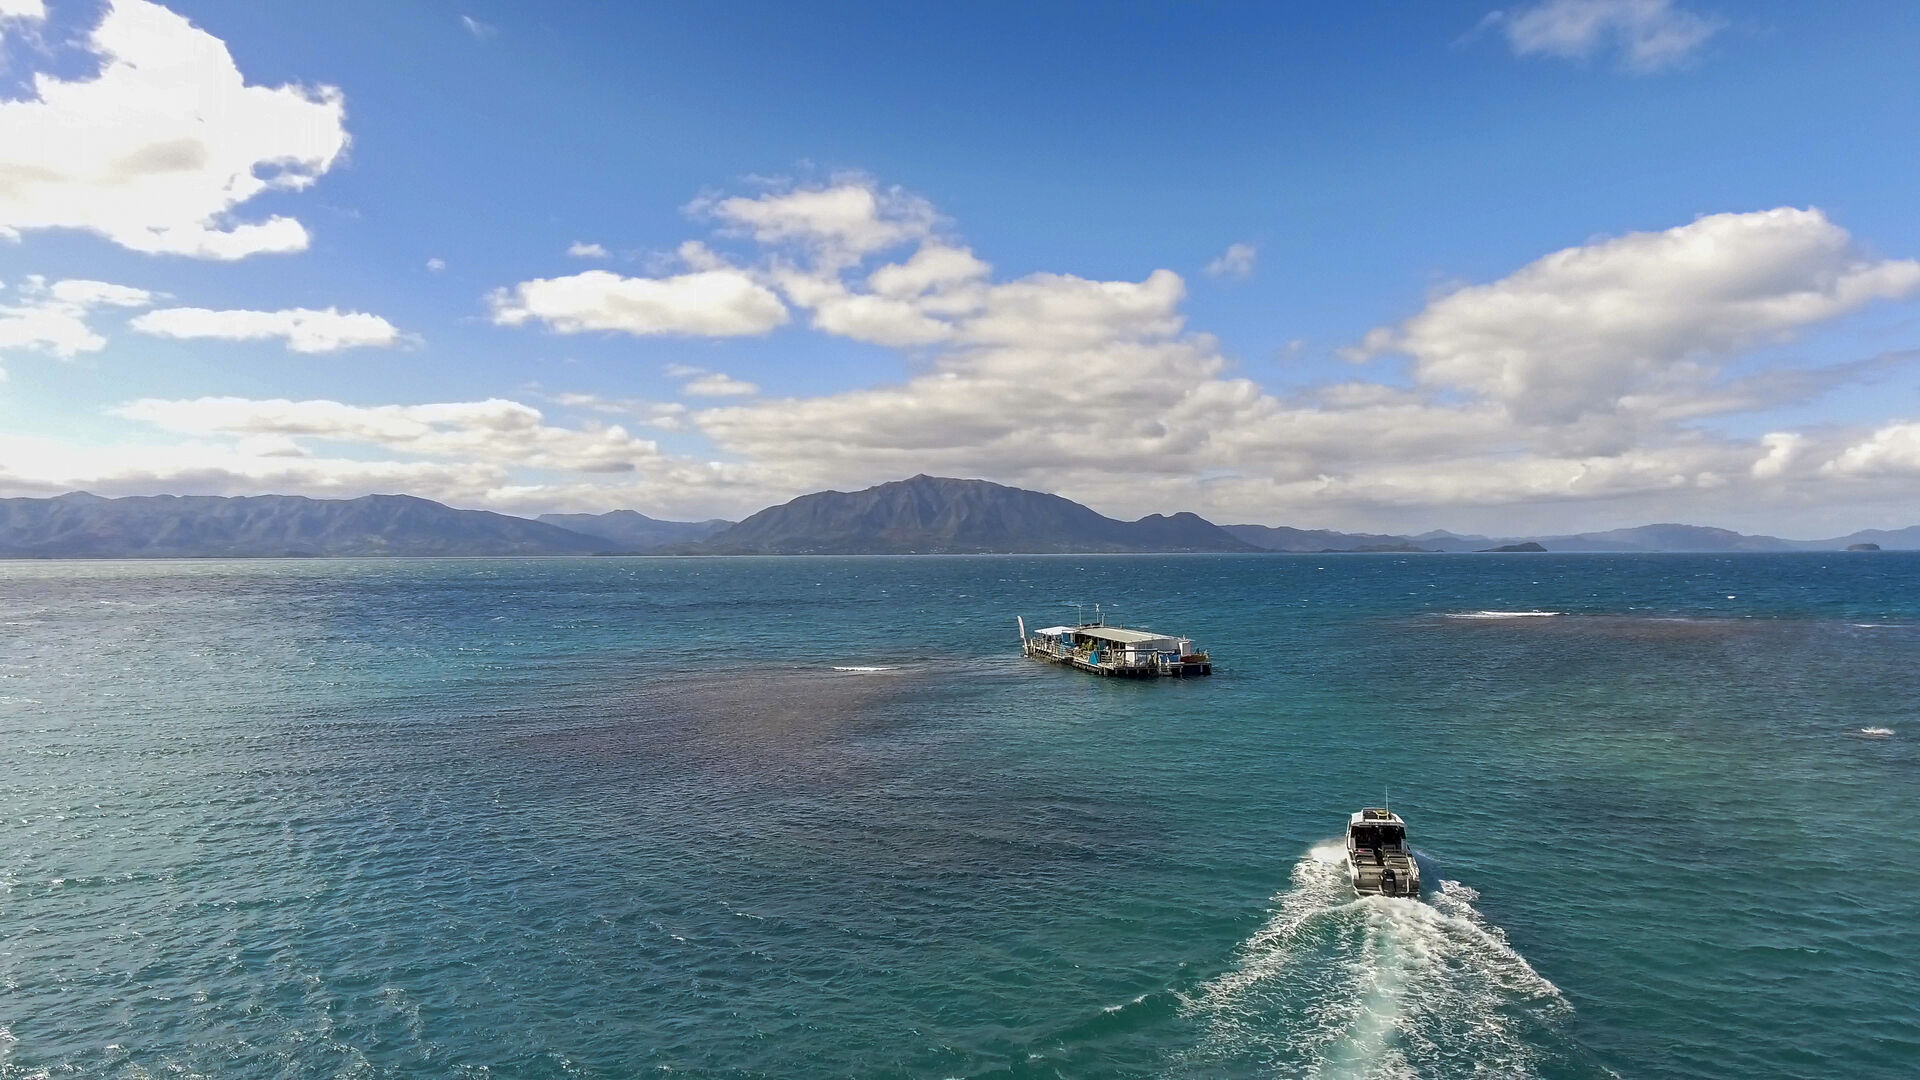
M 912 477 L 814 492 L 739 523 L 660 521 L 632 509 L 538 521 L 413 496 L 129 496 L 0 500 L 0 557 L 301 555 L 877 555 L 991 552 L 1839 552 L 1920 550 L 1920 525 L 1782 540 L 1699 525 L 1549 536 L 1336 532 L 1213 525 L 1194 513 L 1119 521 L 1077 502 L 987 480 Z

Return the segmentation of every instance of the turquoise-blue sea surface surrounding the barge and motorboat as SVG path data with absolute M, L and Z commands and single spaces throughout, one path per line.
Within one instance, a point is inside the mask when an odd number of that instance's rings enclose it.
M 0 1076 L 1912 1076 L 1916 586 L 4 563 Z M 1215 676 L 1018 657 L 1094 600 Z

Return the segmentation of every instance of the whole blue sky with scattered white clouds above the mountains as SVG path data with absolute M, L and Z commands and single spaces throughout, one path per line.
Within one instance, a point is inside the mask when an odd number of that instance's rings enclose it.
M 1914 56 L 1870 0 L 0 0 L 0 496 L 1916 525 Z

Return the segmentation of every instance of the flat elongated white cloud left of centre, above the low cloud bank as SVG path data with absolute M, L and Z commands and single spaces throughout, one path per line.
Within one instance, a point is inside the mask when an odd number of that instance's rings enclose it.
M 541 321 L 563 334 L 764 334 L 787 321 L 787 307 L 753 277 L 710 269 L 678 277 L 620 277 L 586 271 L 522 281 L 490 296 L 493 321 L 518 327 Z

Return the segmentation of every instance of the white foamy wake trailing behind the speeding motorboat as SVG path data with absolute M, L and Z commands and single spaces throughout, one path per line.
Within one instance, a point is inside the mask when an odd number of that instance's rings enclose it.
M 1204 1028 L 1194 1065 L 1311 1078 L 1569 1065 L 1572 1009 L 1475 911 L 1476 896 L 1442 880 L 1430 903 L 1356 897 L 1342 846 L 1313 847 L 1233 970 L 1188 997 Z

